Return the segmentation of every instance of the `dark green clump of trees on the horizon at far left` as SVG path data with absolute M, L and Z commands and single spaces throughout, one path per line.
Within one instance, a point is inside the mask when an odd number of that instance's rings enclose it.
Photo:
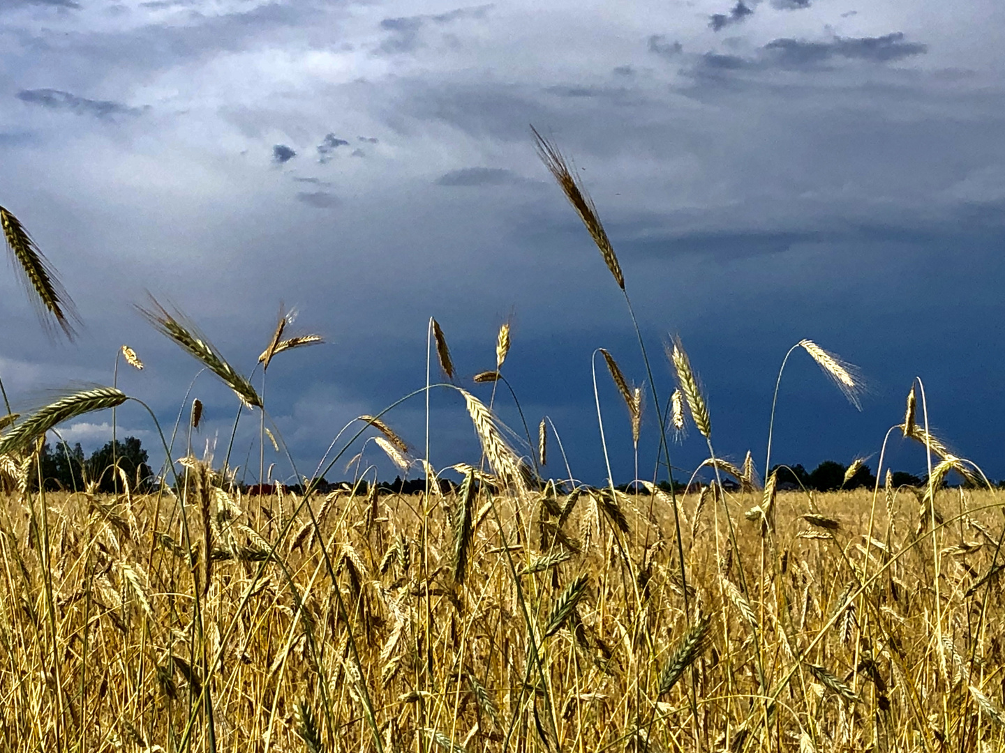
M 145 492 L 153 487 L 153 473 L 147 451 L 136 437 L 108 442 L 85 458 L 80 443 L 70 447 L 65 442 L 50 447 L 46 442 L 38 456 L 38 464 L 32 469 L 29 483 L 33 489 L 39 485 L 39 477 L 46 491 L 83 491 L 87 482 L 97 483 L 97 490 L 112 493 L 123 490 L 122 476 L 115 471 L 118 465 L 129 480 L 130 489 Z

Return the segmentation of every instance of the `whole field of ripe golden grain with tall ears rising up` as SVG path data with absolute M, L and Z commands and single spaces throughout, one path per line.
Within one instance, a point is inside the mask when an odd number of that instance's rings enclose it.
M 535 138 L 634 324 L 596 208 L 554 144 Z M 0 220 L 43 314 L 71 334 L 71 304 L 52 270 L 13 215 L 0 208 Z M 259 444 L 267 435 L 278 452 L 281 436 L 265 426 L 264 375 L 277 354 L 321 338 L 285 336 L 289 317 L 280 311 L 256 390 L 179 312 L 156 301 L 142 312 L 229 386 L 238 420 L 259 413 Z M 680 340 L 666 353 L 675 389 L 660 402 L 635 331 L 659 458 L 652 481 L 637 481 L 632 494 L 579 484 L 567 463 L 548 474 L 559 465 L 549 462 L 551 442 L 562 448 L 547 420 L 535 457 L 508 441 L 492 411 L 496 387 L 512 392 L 507 325 L 495 367 L 474 380 L 491 386 L 482 401 L 454 384 L 446 338 L 431 319 L 426 387 L 350 422 L 297 494 L 281 486 L 242 493 L 229 449 L 216 461 L 178 452 L 183 440 L 192 446 L 198 400 L 187 431 L 179 419 L 170 437 L 151 413 L 165 456 L 176 459 L 154 489 L 113 466 L 117 494 L 98 494 L 95 479 L 46 492 L 35 462 L 46 433 L 135 399 L 112 387 L 24 418 L 8 406 L 0 420 L 0 747 L 1003 749 L 1001 507 L 980 469 L 929 431 L 921 381 L 887 439 L 918 441 L 926 486 L 894 488 L 880 453 L 876 475 L 885 470 L 885 480 L 872 490 L 781 492 L 769 473 L 774 407 L 762 485 L 750 453 L 740 466 L 716 454 L 712 415 Z M 779 383 L 797 350 L 857 403 L 854 368 L 811 340 L 786 354 Z M 449 383 L 432 384 L 433 351 Z M 608 350 L 598 353 L 628 409 L 637 479 L 643 389 Z M 131 348 L 120 354 L 143 367 Z M 428 462 L 428 429 L 425 453 L 416 453 L 388 423 L 415 397 L 425 397 L 428 415 L 433 389 L 460 394 L 482 450 L 476 463 L 451 467 L 463 478 L 451 493 Z M 597 411 L 606 457 L 599 397 Z M 680 493 L 653 482 L 667 478 L 668 438 L 687 425 L 708 447 L 695 473 L 710 481 Z M 403 473 L 418 467 L 424 492 L 381 493 L 361 482 L 321 493 L 317 479 L 361 451 L 364 436 Z M 951 473 L 967 484 L 947 488 Z M 739 491 L 724 487 L 725 476 Z

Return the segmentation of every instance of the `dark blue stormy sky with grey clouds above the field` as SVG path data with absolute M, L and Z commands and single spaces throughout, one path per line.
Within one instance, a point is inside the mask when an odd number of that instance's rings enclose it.
M 775 459 L 877 453 L 919 375 L 932 426 L 1005 477 L 999 3 L 455 2 L 0 5 L 0 204 L 85 325 L 73 343 L 47 339 L 13 270 L 0 276 L 0 378 L 16 406 L 109 384 L 128 342 L 148 367 L 120 385 L 170 429 L 198 367 L 134 304 L 148 290 L 174 302 L 250 371 L 283 301 L 291 331 L 328 340 L 278 356 L 266 388 L 309 473 L 347 421 L 424 384 L 430 316 L 457 384 L 486 401 L 470 376 L 494 365 L 510 320 L 504 370 L 532 433 L 551 417 L 573 474 L 601 482 L 592 354 L 608 348 L 639 383 L 644 366 L 533 123 L 597 204 L 663 399 L 663 343 L 683 339 L 719 454 L 763 463 L 778 366 L 809 337 L 858 364 L 869 393 L 855 411 L 795 354 Z M 626 481 L 627 414 L 599 375 Z M 206 374 L 191 397 L 207 406 L 196 443 L 219 437 L 219 456 L 235 400 Z M 522 433 L 509 394 L 498 407 Z M 475 459 L 456 393 L 432 410 L 434 464 Z M 87 419 L 66 431 L 85 448 L 111 431 L 111 417 Z M 153 445 L 141 409 L 118 419 Z M 421 400 L 387 419 L 423 444 Z M 247 465 L 256 427 L 242 425 L 232 462 Z M 693 468 L 702 444 L 691 431 L 674 464 Z M 890 451 L 894 469 L 924 469 L 917 448 Z M 393 477 L 373 444 L 370 462 Z

